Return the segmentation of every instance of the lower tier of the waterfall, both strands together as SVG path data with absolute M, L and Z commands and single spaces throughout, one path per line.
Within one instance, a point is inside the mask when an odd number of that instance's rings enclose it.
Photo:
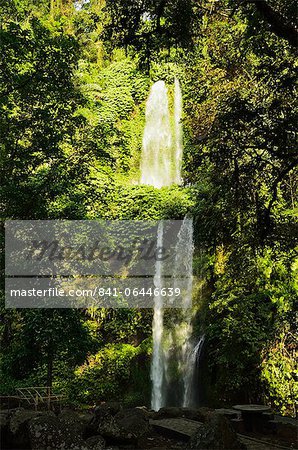
M 161 247 L 162 244 L 163 225 L 160 222 L 157 232 L 157 247 Z M 164 335 L 163 298 L 161 296 L 154 298 L 151 407 L 155 411 L 167 404 L 167 394 L 171 386 L 169 363 L 172 358 L 175 358 L 182 380 L 180 405 L 188 406 L 192 403 L 196 373 L 196 360 L 193 355 L 198 354 L 197 347 L 194 349 L 191 341 L 193 331 L 191 311 L 193 250 L 193 223 L 191 219 L 185 218 L 177 235 L 172 276 L 173 287 L 179 287 L 182 292 L 181 313 L 179 320 L 175 323 L 174 333 L 168 333 L 168 342 Z M 163 287 L 162 268 L 162 261 L 156 261 L 154 285 L 159 289 Z

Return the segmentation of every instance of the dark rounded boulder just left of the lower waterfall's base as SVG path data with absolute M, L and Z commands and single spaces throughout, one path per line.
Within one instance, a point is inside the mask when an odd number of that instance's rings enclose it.
M 116 414 L 115 419 L 121 428 L 140 438 L 151 429 L 149 417 L 141 408 L 126 409 Z

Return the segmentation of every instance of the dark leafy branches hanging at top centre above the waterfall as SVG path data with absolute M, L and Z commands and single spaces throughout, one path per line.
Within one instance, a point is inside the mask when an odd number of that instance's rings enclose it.
M 107 0 L 109 21 L 103 36 L 110 48 L 133 49 L 141 67 L 149 72 L 151 62 L 163 50 L 191 43 L 196 16 L 190 0 L 135 2 Z

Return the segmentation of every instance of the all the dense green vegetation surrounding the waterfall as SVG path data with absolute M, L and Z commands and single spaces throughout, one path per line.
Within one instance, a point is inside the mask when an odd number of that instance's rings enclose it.
M 292 0 L 1 0 L 0 13 L 2 218 L 191 212 L 206 401 L 290 414 L 295 13 Z M 175 75 L 185 186 L 139 186 L 149 87 Z M 150 310 L 8 310 L 3 300 L 2 316 L 2 394 L 53 383 L 76 404 L 148 403 Z

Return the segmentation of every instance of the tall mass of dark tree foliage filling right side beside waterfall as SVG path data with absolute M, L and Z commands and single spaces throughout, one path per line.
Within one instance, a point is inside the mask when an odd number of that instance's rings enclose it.
M 278 342 L 295 333 L 298 292 L 296 61 L 287 42 L 256 33 L 255 12 L 226 12 L 203 17 L 185 79 L 185 174 L 209 285 L 206 383 L 215 403 L 266 397 L 293 414 L 292 344 Z

